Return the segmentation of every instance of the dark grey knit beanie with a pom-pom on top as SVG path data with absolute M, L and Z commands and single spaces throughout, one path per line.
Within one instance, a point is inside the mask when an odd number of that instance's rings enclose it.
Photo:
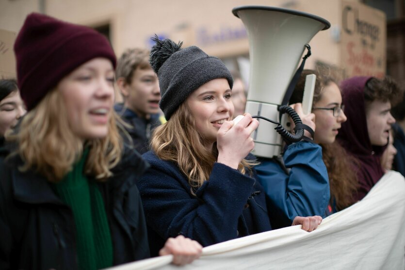
M 150 50 L 150 64 L 158 74 L 162 95 L 159 106 L 166 120 L 191 93 L 212 79 L 227 79 L 232 89 L 232 76 L 218 58 L 195 46 L 182 49 L 182 42 L 159 40 L 156 35 L 152 40 L 156 44 Z

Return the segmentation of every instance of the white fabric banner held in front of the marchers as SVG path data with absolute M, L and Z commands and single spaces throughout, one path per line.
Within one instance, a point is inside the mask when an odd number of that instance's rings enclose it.
M 111 268 L 173 270 L 162 256 Z M 301 225 L 233 239 L 203 249 L 189 269 L 405 269 L 405 179 L 385 174 L 355 205 L 324 219 L 313 232 Z

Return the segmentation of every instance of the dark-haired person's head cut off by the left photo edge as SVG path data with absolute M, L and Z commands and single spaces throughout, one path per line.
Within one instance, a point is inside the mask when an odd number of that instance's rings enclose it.
M 25 114 L 25 105 L 18 91 L 15 79 L 0 79 L 0 146 L 4 143 L 4 134 L 14 127 Z

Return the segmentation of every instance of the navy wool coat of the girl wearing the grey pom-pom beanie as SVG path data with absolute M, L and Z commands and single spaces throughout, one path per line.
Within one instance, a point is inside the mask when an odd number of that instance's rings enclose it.
M 260 184 L 224 164 L 215 163 L 210 179 L 195 191 L 176 163 L 143 155 L 150 169 L 137 183 L 156 255 L 164 240 L 183 235 L 203 246 L 271 230 Z

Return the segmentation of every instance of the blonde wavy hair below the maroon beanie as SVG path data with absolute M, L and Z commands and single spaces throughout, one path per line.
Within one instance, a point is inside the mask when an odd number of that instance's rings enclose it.
M 89 147 L 84 173 L 103 180 L 112 175 L 111 169 L 121 159 L 123 143 L 116 119 L 113 112 L 105 138 L 91 139 L 83 145 L 69 128 L 65 102 L 55 89 L 23 117 L 18 132 L 7 134 L 7 140 L 18 144 L 14 154 L 24 161 L 21 171 L 33 169 L 50 182 L 62 180 L 81 158 L 83 147 Z

